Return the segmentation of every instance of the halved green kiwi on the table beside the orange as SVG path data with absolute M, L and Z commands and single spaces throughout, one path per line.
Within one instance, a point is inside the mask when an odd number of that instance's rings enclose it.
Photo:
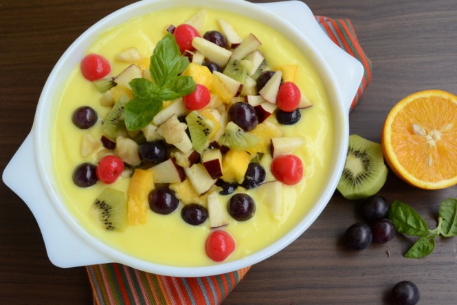
M 387 173 L 379 143 L 357 134 L 349 136 L 346 163 L 337 186 L 344 198 L 355 200 L 375 195 L 386 182 Z

